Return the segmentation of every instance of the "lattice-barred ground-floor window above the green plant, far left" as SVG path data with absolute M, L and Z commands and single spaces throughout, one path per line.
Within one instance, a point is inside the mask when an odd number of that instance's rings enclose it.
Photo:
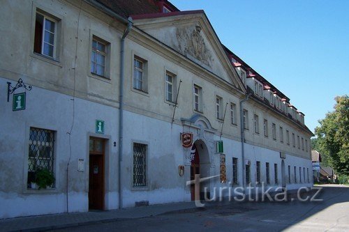
M 35 182 L 35 173 L 47 169 L 54 174 L 54 132 L 31 127 L 29 132 L 27 186 Z

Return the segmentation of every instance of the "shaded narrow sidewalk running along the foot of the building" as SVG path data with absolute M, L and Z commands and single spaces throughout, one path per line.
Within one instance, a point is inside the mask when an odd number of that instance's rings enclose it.
M 54 215 L 0 219 L 0 231 L 47 231 L 117 220 L 151 217 L 165 212 L 195 208 L 194 202 L 168 203 L 154 206 L 140 206 L 122 210 L 71 212 Z

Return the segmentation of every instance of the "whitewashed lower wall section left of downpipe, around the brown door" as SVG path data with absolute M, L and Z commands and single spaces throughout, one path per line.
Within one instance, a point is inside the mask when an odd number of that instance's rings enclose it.
M 105 136 L 110 147 L 105 156 L 106 190 L 105 208 L 117 208 L 117 141 L 118 111 L 113 107 L 89 102 L 72 96 L 47 91 L 33 86 L 27 91 L 26 109 L 12 111 L 12 95 L 6 102 L 7 84 L 0 77 L 0 218 L 41 215 L 66 211 L 66 166 L 69 158 L 67 132 L 75 118 L 71 133 L 71 160 L 69 165 L 69 212 L 88 210 L 89 134 L 94 134 L 96 119 L 105 121 Z M 24 82 L 26 80 L 24 79 Z M 11 82 L 11 81 L 10 81 Z M 12 81 L 13 85 L 15 84 Z M 20 88 L 15 93 L 21 93 Z M 27 190 L 27 160 L 30 127 L 54 130 L 54 190 Z M 84 158 L 84 171 L 77 171 L 77 159 Z

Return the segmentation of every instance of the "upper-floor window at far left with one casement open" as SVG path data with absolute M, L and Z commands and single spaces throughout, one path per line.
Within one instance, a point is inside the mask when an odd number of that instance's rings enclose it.
M 56 58 L 57 20 L 43 13 L 36 13 L 34 52 Z

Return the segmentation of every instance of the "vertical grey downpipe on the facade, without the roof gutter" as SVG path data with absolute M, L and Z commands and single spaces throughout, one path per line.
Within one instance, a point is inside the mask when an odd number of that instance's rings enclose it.
M 121 190 L 121 162 L 123 153 L 123 132 L 124 132 L 124 50 L 125 38 L 132 28 L 132 18 L 128 17 L 127 28 L 121 37 L 120 50 L 120 83 L 119 83 L 119 162 L 118 162 L 118 189 L 119 189 L 119 209 L 122 208 L 122 190 Z

